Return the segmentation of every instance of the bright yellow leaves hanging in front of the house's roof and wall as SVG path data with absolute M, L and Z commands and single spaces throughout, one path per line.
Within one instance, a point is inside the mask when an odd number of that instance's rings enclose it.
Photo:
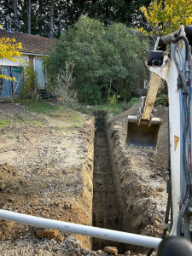
M 0 26 L 1 27 L 1 26 Z M 22 49 L 21 43 L 16 43 L 15 38 L 0 38 L 0 59 L 7 59 L 9 61 L 20 61 L 20 49 Z M 11 77 L 0 74 L 0 79 L 10 79 Z M 13 78 L 15 80 L 15 78 Z

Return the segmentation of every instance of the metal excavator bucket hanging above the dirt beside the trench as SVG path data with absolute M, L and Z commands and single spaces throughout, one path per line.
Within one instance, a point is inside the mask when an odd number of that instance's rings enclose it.
M 151 121 L 142 119 L 138 125 L 137 116 L 128 115 L 126 146 L 156 149 L 161 124 L 161 119 L 153 118 Z

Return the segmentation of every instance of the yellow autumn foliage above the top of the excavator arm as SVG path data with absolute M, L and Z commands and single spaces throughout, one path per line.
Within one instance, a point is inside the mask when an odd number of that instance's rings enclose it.
M 181 24 L 192 24 L 192 0 L 155 0 L 150 3 L 148 9 L 143 6 L 141 11 L 150 32 L 143 28 L 138 31 L 154 38 L 177 31 Z

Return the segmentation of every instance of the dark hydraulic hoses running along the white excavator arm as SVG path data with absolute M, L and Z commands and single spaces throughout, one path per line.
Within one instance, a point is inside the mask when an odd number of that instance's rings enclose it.
M 175 40 L 173 40 L 174 43 L 177 43 L 179 40 L 183 39 L 185 43 L 185 61 L 187 62 L 186 65 L 186 76 L 188 75 L 188 65 L 189 65 L 189 44 L 187 41 L 187 38 L 185 37 L 178 37 Z M 173 60 L 175 62 L 175 65 L 177 67 L 178 77 L 181 79 L 182 84 L 179 84 L 179 98 L 180 98 L 180 123 L 181 123 L 181 201 L 182 206 L 180 208 L 178 218 L 177 218 L 177 236 L 180 236 L 181 233 L 181 225 L 182 225 L 182 218 L 183 214 L 185 212 L 185 209 L 187 207 L 189 196 L 190 196 L 190 187 L 189 184 L 191 183 L 191 178 L 189 175 L 189 172 L 191 171 L 191 132 L 190 132 L 190 100 L 191 100 L 191 93 L 190 93 L 190 83 L 189 85 L 186 82 L 186 79 L 183 76 L 183 64 L 182 64 L 182 58 L 179 49 L 176 48 L 176 45 L 172 45 L 172 55 Z M 177 53 L 180 56 L 180 64 L 181 67 L 179 67 L 176 57 L 176 49 Z M 187 78 L 189 79 L 189 78 Z M 184 93 L 182 92 L 182 85 L 184 86 Z M 183 100 L 184 97 L 184 100 Z M 185 113 L 185 118 L 183 121 L 183 109 Z M 186 175 L 186 191 L 183 198 L 183 168 Z

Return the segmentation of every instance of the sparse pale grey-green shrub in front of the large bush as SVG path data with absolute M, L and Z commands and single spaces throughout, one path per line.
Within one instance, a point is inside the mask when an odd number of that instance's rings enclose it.
M 55 96 L 58 102 L 66 107 L 75 108 L 78 106 L 77 92 L 73 90 L 73 67 L 74 64 L 66 62 L 66 69 L 57 74 L 55 78 Z

